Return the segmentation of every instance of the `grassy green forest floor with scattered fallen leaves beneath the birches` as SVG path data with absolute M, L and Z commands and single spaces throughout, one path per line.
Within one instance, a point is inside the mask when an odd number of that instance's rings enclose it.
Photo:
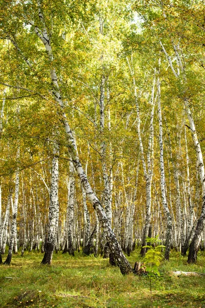
M 128 257 L 132 266 L 139 261 L 136 250 Z M 3 256 L 5 259 L 5 256 Z M 150 307 L 149 278 L 122 276 L 108 259 L 94 256 L 53 255 L 52 265 L 40 265 L 43 254 L 14 255 L 11 265 L 0 266 L 0 307 Z M 205 273 L 205 253 L 197 264 L 172 252 L 160 265 L 161 276 L 152 281 L 153 307 L 205 308 L 204 276 L 182 276 L 172 271 Z M 8 278 L 12 277 L 12 278 Z

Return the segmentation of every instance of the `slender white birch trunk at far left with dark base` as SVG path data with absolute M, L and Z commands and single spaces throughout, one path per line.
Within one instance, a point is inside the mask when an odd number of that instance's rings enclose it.
M 17 161 L 19 160 L 19 146 L 17 148 L 17 154 L 16 154 L 16 159 Z M 19 192 L 19 167 L 17 167 L 16 171 L 16 180 L 15 180 L 15 199 L 14 199 L 14 206 L 13 206 L 13 217 L 12 217 L 12 225 L 11 225 L 11 238 L 10 238 L 10 243 L 9 243 L 9 252 L 8 256 L 6 258 L 6 261 L 4 264 L 10 264 L 11 259 L 12 259 L 12 252 L 13 252 L 13 245 L 14 245 L 14 240 L 15 240 L 15 235 L 16 235 L 16 219 L 17 219 L 17 210 L 18 210 L 18 192 Z

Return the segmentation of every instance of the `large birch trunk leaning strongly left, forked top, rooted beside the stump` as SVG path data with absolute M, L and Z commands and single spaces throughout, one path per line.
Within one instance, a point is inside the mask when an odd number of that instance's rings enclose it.
M 122 274 L 128 274 L 132 272 L 132 267 L 124 254 L 122 253 L 121 247 L 119 243 L 117 242 L 117 239 L 113 233 L 113 230 L 110 226 L 110 223 L 108 221 L 108 218 L 106 216 L 104 208 L 101 206 L 98 198 L 93 193 L 93 190 L 90 186 L 90 183 L 88 181 L 88 178 L 83 170 L 83 167 L 81 165 L 81 162 L 78 157 L 74 137 L 72 130 L 70 128 L 69 122 L 67 120 L 67 116 L 65 113 L 65 106 L 64 102 L 61 99 L 60 89 L 58 86 L 58 79 L 57 74 L 55 71 L 55 68 L 53 67 L 53 53 L 52 53 L 52 47 L 51 47 L 51 40 L 50 36 L 48 34 L 48 31 L 46 29 L 46 25 L 44 22 L 44 17 L 42 12 L 40 11 L 40 7 L 38 8 L 38 16 L 40 18 L 40 21 L 43 24 L 43 30 L 40 31 L 38 27 L 34 25 L 34 23 L 31 21 L 32 26 L 34 27 L 34 31 L 36 35 L 39 37 L 39 39 L 43 42 L 45 49 L 47 50 L 49 60 L 50 60 L 50 73 L 51 73 L 51 82 L 52 82 L 52 94 L 53 98 L 56 101 L 56 103 L 59 105 L 58 115 L 60 118 L 61 123 L 65 127 L 66 136 L 67 136 L 67 148 L 70 155 L 70 158 L 73 161 L 74 168 L 77 172 L 77 175 L 79 176 L 79 179 L 81 181 L 81 184 L 84 186 L 87 194 L 87 198 L 89 202 L 93 205 L 94 209 L 97 212 L 99 221 L 101 225 L 103 226 L 103 229 L 106 233 L 107 242 L 109 245 L 110 252 L 113 253 L 114 259 L 116 260 L 116 264 L 119 266 L 120 271 Z

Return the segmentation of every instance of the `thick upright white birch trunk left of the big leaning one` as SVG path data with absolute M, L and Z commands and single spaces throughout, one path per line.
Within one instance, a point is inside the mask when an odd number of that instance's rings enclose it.
M 53 151 L 52 171 L 51 171 L 51 189 L 49 203 L 49 226 L 48 238 L 45 244 L 45 254 L 42 264 L 51 264 L 53 251 L 55 248 L 55 221 L 56 209 L 58 204 L 58 148 Z

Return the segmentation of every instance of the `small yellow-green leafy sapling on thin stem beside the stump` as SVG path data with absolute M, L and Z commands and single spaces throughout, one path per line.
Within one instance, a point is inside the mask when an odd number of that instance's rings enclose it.
M 148 277 L 150 278 L 150 303 L 152 307 L 152 277 L 156 277 L 156 275 L 160 276 L 158 267 L 163 259 L 161 249 L 165 248 L 165 246 L 157 245 L 160 242 L 158 236 L 154 238 L 147 237 L 146 241 L 147 243 L 150 243 L 150 245 L 144 246 L 149 248 L 145 255 L 144 262 L 146 263 L 146 271 L 148 273 Z

